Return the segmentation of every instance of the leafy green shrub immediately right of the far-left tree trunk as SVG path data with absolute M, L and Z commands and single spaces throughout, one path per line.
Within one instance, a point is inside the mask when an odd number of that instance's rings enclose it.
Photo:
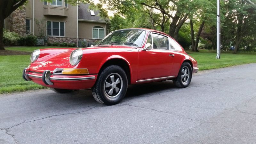
M 18 44 L 18 40 L 20 39 L 20 35 L 18 33 L 5 30 L 3 34 L 3 42 L 5 46 Z

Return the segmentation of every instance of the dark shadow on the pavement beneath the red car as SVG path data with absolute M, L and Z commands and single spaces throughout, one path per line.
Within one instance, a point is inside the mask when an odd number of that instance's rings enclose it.
M 138 96 L 147 97 L 148 94 L 151 93 L 166 92 L 174 89 L 176 89 L 176 87 L 170 80 L 164 82 L 153 82 L 148 84 L 129 85 L 124 100 L 122 101 Z M 45 107 L 47 107 L 48 105 L 50 106 L 50 104 L 52 107 L 53 103 L 54 105 L 58 105 L 61 107 L 65 105 L 72 105 L 76 106 L 77 108 L 93 105 L 104 106 L 94 100 L 91 90 L 80 90 L 69 93 L 55 93 L 49 91 L 48 94 L 44 94 L 39 97 L 41 98 L 35 99 L 36 103 L 41 103 L 42 105 L 45 104 Z

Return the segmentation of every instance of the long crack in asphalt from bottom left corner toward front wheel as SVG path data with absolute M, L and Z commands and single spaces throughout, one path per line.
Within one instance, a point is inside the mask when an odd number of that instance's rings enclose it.
M 89 106 L 89 107 L 92 107 L 92 106 Z M 92 108 L 96 108 L 96 107 L 100 107 L 100 106 L 93 106 Z M 88 108 L 88 107 L 85 107 L 85 108 Z M 75 113 L 67 113 L 67 114 L 59 114 L 59 115 L 46 116 L 46 117 L 44 117 L 44 118 L 35 119 L 35 120 L 32 120 L 32 121 L 27 121 L 27 120 L 25 120 L 24 122 L 19 123 L 19 124 L 15 124 L 15 125 L 13 125 L 12 127 L 9 127 L 9 128 L 0 128 L 0 130 L 5 130 L 5 133 L 6 133 L 7 135 L 12 136 L 12 139 L 13 139 L 14 143 L 18 143 L 18 140 L 15 138 L 15 135 L 9 133 L 9 129 L 11 129 L 11 128 L 13 128 L 13 127 L 16 127 L 16 126 L 18 126 L 18 125 L 20 125 L 20 124 L 30 123 L 30 122 L 34 122 L 34 121 L 38 121 L 38 120 L 50 118 L 50 117 L 53 117 L 53 116 L 63 116 L 63 115 L 70 115 L 70 114 L 79 114 L 79 113 L 83 113 L 83 112 L 86 112 L 86 111 L 91 110 L 92 108 L 89 108 L 89 109 L 83 110 L 83 111 L 79 111 L 79 112 L 75 112 Z M 26 121 L 27 121 L 27 122 L 26 122 Z

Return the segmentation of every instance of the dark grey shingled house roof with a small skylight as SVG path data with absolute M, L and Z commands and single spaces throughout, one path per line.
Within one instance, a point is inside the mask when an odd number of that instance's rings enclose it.
M 90 4 L 78 5 L 78 19 L 85 20 L 85 21 L 104 22 L 104 23 L 106 22 L 106 20 L 109 21 L 109 19 L 102 19 L 99 16 L 99 12 L 100 12 L 99 10 L 94 11 L 95 16 L 92 16 L 89 7 L 90 7 Z

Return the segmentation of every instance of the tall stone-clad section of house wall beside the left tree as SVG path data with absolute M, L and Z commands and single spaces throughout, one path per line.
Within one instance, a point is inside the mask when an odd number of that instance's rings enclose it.
M 20 35 L 26 34 L 26 12 L 25 6 L 16 9 L 9 16 L 10 31 L 19 33 Z

